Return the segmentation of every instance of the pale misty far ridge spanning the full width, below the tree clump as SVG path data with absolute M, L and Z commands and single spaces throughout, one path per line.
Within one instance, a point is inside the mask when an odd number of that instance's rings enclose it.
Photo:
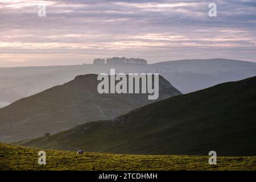
M 159 73 L 182 93 L 256 75 L 256 63 L 227 59 L 179 60 L 147 65 L 85 64 L 0 68 L 0 101 L 14 102 L 64 84 L 77 75 L 109 73 L 110 68 L 121 73 Z

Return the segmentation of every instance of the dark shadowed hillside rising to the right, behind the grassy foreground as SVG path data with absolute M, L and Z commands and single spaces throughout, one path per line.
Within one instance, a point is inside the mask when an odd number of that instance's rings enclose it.
M 109 121 L 23 141 L 56 150 L 118 154 L 256 155 L 256 77 L 167 98 Z

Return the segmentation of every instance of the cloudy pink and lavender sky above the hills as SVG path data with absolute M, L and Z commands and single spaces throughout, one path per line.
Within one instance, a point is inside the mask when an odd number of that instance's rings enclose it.
M 216 17 L 209 3 L 216 3 Z M 114 56 L 256 62 L 255 32 L 255 0 L 0 0 L 0 67 Z

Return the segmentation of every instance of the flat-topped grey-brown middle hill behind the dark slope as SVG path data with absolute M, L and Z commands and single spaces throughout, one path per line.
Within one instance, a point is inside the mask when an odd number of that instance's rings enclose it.
M 22 98 L 0 109 L 0 141 L 35 138 L 89 121 L 112 119 L 157 100 L 148 94 L 99 94 L 97 75 L 80 75 L 64 85 Z M 159 98 L 181 94 L 159 76 Z

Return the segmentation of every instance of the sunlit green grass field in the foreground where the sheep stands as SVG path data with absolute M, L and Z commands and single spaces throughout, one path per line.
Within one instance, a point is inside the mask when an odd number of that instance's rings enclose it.
M 256 156 L 117 155 L 46 151 L 46 165 L 38 164 L 39 149 L 0 143 L 0 170 L 256 170 Z

